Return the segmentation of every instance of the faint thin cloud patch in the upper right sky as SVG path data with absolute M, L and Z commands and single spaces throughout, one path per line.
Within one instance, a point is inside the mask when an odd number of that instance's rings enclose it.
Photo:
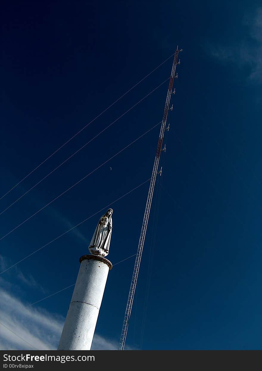
M 210 54 L 221 62 L 234 63 L 239 68 L 248 67 L 249 80 L 262 82 L 262 7 L 245 15 L 242 26 L 247 27 L 245 38 L 231 45 L 212 45 Z

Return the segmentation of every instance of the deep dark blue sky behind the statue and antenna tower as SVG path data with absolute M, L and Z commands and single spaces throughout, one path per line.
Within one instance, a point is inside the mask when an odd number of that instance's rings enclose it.
M 261 349 L 261 35 L 256 1 L 4 4 L 0 196 L 183 48 L 127 335 L 132 348 Z M 1 211 L 165 81 L 171 67 L 169 59 L 2 198 Z M 1 236 L 160 122 L 167 88 L 1 214 Z M 3 267 L 150 178 L 158 135 L 152 129 L 2 239 Z M 148 187 L 112 204 L 113 265 L 136 253 Z M 3 273 L 3 287 L 33 303 L 72 285 L 103 212 Z M 113 342 L 134 259 L 107 280 L 96 333 Z M 72 292 L 35 306 L 65 317 Z

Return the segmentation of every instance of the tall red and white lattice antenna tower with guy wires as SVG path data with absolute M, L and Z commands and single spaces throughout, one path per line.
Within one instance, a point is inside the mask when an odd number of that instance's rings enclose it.
M 119 343 L 119 350 L 124 350 L 125 348 L 125 342 L 126 342 L 126 335 L 127 335 L 127 329 L 129 325 L 129 318 L 132 310 L 132 305 L 133 305 L 133 300 L 134 300 L 134 295 L 135 295 L 135 290 L 136 290 L 136 283 L 137 283 L 137 276 L 139 272 L 139 267 L 140 267 L 140 262 L 141 262 L 141 257 L 142 257 L 142 251 L 143 251 L 143 246 L 145 242 L 145 236 L 146 236 L 146 229 L 147 229 L 147 223 L 149 219 L 149 213 L 150 213 L 150 207 L 152 203 L 152 198 L 153 198 L 153 192 L 155 188 L 155 183 L 156 183 L 156 175 L 162 173 L 162 168 L 160 171 L 158 171 L 158 166 L 159 166 L 159 159 L 160 159 L 160 154 L 162 150 L 165 150 L 165 148 L 162 149 L 163 145 L 163 138 L 166 130 L 166 120 L 168 118 L 168 111 L 173 110 L 173 105 L 171 108 L 169 108 L 170 105 L 170 98 L 172 93 L 175 93 L 175 90 L 172 92 L 173 89 L 173 82 L 174 79 L 178 77 L 178 74 L 175 76 L 176 72 L 176 66 L 180 64 L 180 59 L 178 61 L 178 54 L 179 52 L 182 52 L 182 49 L 176 48 L 175 51 L 175 56 L 173 60 L 173 65 L 172 65 L 172 71 L 171 71 L 171 76 L 170 76 L 170 81 L 169 81 L 169 86 L 168 86 L 168 94 L 166 96 L 166 104 L 165 104 L 165 109 L 164 109 L 164 115 L 163 115 L 163 120 L 160 128 L 160 134 L 159 134 L 159 139 L 157 143 L 157 149 L 156 149 L 156 157 L 155 157 L 155 162 L 153 166 L 153 172 L 152 172 L 152 177 L 150 181 L 150 186 L 149 186 L 149 191 L 148 191 L 148 196 L 146 200 L 146 210 L 144 214 L 144 219 L 143 219 L 143 224 L 142 224 L 142 229 L 141 229 L 141 234 L 139 238 L 139 244 L 138 244 L 138 249 L 137 249 L 137 254 L 136 254 L 136 262 L 135 262 L 135 267 L 133 271 L 133 276 L 132 276 L 132 281 L 131 281 L 131 286 L 129 290 L 129 296 L 127 299 L 127 305 L 126 305 L 126 312 L 125 312 L 125 318 L 123 322 L 123 328 L 122 328 L 122 333 L 121 333 L 121 338 L 120 338 L 120 343 Z M 169 129 L 169 127 L 167 128 Z

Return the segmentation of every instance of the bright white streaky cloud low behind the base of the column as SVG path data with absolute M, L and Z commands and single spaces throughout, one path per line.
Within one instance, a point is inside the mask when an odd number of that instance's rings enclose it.
M 0 349 L 55 350 L 62 333 L 64 318 L 28 303 L 0 289 Z M 116 341 L 95 334 L 92 350 L 115 350 Z

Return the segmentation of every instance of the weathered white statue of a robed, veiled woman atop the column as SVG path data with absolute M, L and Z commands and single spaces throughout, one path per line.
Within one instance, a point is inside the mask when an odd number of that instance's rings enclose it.
M 108 209 L 97 224 L 93 238 L 90 242 L 89 251 L 92 255 L 107 256 L 112 233 L 113 209 Z

